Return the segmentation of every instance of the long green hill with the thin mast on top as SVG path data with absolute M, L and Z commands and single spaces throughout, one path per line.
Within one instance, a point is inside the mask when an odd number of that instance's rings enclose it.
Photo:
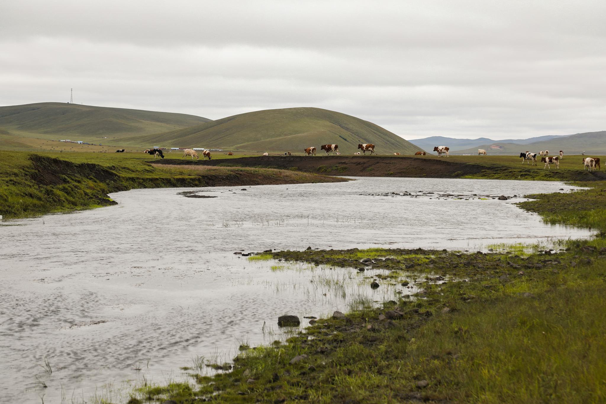
M 42 102 L 0 107 L 0 133 L 5 136 L 99 141 L 159 133 L 209 122 L 200 116 Z

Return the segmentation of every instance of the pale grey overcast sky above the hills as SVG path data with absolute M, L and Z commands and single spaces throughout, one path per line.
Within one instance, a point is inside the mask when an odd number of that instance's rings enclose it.
M 0 0 L 0 105 L 287 107 L 404 137 L 606 130 L 606 1 Z

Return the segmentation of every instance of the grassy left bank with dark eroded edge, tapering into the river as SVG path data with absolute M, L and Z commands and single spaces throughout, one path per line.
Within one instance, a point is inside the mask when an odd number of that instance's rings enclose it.
M 169 154 L 167 159 L 176 156 Z M 218 155 L 215 158 L 230 156 Z M 108 193 L 133 188 L 300 184 L 343 179 L 267 168 L 156 167 L 144 153 L 0 151 L 4 219 L 112 205 Z

